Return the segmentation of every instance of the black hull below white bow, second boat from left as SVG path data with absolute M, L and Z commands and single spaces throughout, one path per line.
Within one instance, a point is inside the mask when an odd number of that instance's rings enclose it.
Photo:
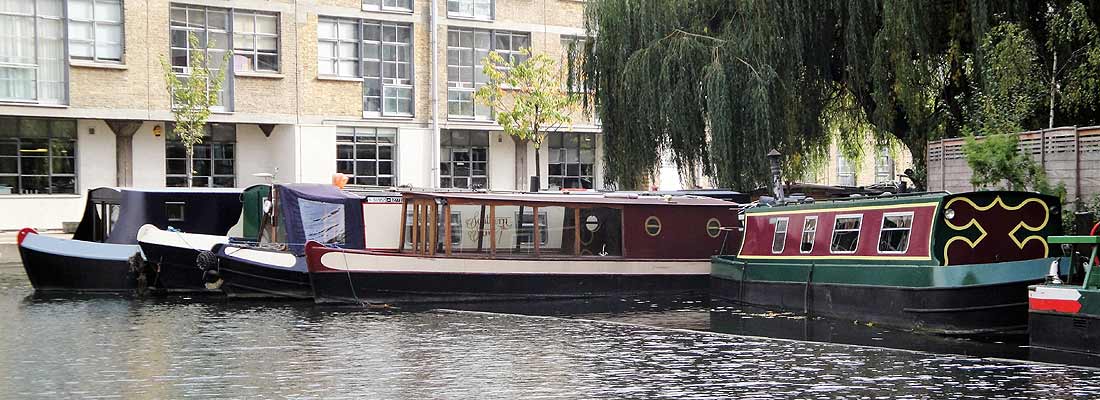
M 145 259 L 155 265 L 156 279 L 153 286 L 157 291 L 221 293 L 206 288 L 202 269 L 199 269 L 195 262 L 199 251 L 151 243 L 142 243 L 141 249 Z

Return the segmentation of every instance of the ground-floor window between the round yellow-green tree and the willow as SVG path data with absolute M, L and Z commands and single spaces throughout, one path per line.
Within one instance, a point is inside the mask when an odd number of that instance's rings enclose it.
M 596 180 L 596 134 L 552 133 L 549 136 L 549 186 L 559 189 L 592 189 Z

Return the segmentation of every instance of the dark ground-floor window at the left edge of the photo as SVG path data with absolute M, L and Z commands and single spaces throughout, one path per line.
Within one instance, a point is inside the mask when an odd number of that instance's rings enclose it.
M 0 118 L 0 195 L 76 193 L 76 121 Z

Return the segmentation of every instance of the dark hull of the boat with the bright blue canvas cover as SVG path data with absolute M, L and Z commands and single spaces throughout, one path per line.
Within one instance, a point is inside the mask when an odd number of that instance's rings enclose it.
M 310 300 L 309 274 L 218 256 L 221 290 L 230 298 Z

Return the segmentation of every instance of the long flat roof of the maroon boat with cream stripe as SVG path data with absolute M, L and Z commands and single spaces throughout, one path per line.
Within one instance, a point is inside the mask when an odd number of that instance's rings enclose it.
M 712 205 L 736 207 L 725 200 L 696 196 L 638 196 L 637 193 L 558 195 L 495 192 L 406 192 L 406 199 L 443 199 L 455 203 L 525 203 L 561 205 Z

